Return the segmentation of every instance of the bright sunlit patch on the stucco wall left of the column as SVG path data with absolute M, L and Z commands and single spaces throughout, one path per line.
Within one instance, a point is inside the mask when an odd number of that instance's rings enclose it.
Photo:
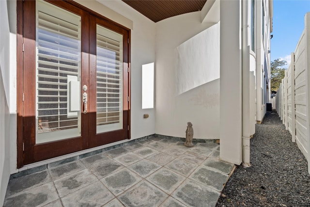
M 215 24 L 175 49 L 177 95 L 219 78 L 218 33 Z

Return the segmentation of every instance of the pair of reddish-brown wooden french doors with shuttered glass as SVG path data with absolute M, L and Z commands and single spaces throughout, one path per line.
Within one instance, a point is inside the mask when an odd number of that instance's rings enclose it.
M 23 164 L 129 139 L 129 31 L 72 1 L 22 19 Z

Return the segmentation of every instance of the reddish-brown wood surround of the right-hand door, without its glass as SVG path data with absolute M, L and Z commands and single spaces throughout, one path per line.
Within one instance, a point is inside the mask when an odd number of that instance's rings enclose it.
M 96 113 L 92 112 L 92 111 L 96 111 L 96 104 L 93 102 L 90 104 L 90 123 L 93 121 L 93 124 L 90 124 L 90 137 L 93 137 L 93 139 L 90 141 L 90 147 L 95 147 L 95 146 L 100 146 L 103 144 L 107 144 L 107 143 L 111 143 L 111 142 L 117 142 L 117 141 L 121 141 L 124 139 L 129 139 L 129 128 L 127 130 L 127 126 L 129 126 L 129 100 L 127 100 L 127 96 L 129 96 L 129 88 L 128 88 L 128 83 L 129 83 L 129 70 L 127 70 L 127 68 L 129 68 L 129 41 L 127 41 L 127 39 L 129 39 L 129 32 L 128 30 L 125 30 L 124 28 L 121 28 L 117 25 L 111 24 L 108 21 L 105 21 L 101 18 L 98 18 L 96 16 L 91 16 L 91 28 L 96 28 L 96 25 L 100 25 L 102 27 L 105 28 L 109 28 L 109 30 L 113 31 L 113 32 L 117 32 L 119 34 L 123 35 L 123 54 L 126 54 L 123 56 L 123 65 L 122 65 L 122 73 L 123 73 L 123 94 L 122 94 L 122 100 L 123 100 L 123 128 L 122 129 L 118 129 L 118 130 L 114 130 L 114 131 L 108 131 L 108 132 L 104 132 L 104 133 L 96 133 L 96 123 L 93 120 L 96 120 Z M 90 57 L 90 91 L 89 91 L 89 95 L 90 97 L 93 98 L 93 100 L 95 100 L 97 94 L 96 94 L 96 31 L 95 30 L 90 30 L 90 54 L 92 55 Z M 128 117 L 128 119 L 124 119 L 124 117 Z

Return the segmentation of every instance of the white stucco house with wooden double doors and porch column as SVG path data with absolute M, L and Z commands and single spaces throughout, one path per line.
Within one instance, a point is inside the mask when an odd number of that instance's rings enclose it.
M 270 95 L 272 0 L 189 0 L 195 12 L 164 17 L 147 3 L 0 1 L 0 205 L 11 174 L 185 137 L 188 121 L 249 166 Z

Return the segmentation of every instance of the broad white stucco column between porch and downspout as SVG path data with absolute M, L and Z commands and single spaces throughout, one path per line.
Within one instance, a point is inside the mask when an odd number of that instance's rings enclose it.
M 242 162 L 241 1 L 220 2 L 220 159 Z

